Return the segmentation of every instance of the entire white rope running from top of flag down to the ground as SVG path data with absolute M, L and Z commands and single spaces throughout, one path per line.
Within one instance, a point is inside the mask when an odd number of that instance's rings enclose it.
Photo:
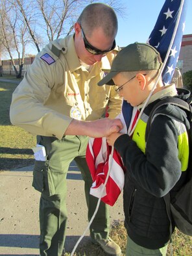
M 139 118 L 141 117 L 141 114 L 143 113 L 143 110 L 145 109 L 147 103 L 149 102 L 149 99 L 150 99 L 150 97 L 152 96 L 152 93 L 154 92 L 154 90 L 155 90 L 155 88 L 156 88 L 156 85 L 158 84 L 158 81 L 160 80 L 160 77 L 162 76 L 163 70 L 164 70 L 164 68 L 165 68 L 165 64 L 167 63 L 167 59 L 169 58 L 169 53 L 171 52 L 171 47 L 173 46 L 173 42 L 174 42 L 174 38 L 175 38 L 176 31 L 177 31 L 177 29 L 178 29 L 178 24 L 179 24 L 179 21 L 180 21 L 180 16 L 181 16 L 181 14 L 182 14 L 183 6 L 184 6 L 184 0 L 182 0 L 181 3 L 180 3 L 179 14 L 178 14 L 178 18 L 177 18 L 177 20 L 176 20 L 176 26 L 174 27 L 173 36 L 172 36 L 172 38 L 171 38 L 171 42 L 170 42 L 170 44 L 169 44 L 169 48 L 168 48 L 167 54 L 166 54 L 166 56 L 165 56 L 165 60 L 164 60 L 164 62 L 163 62 L 163 65 L 162 65 L 162 67 L 160 68 L 160 73 L 158 74 L 158 77 L 157 77 L 157 79 L 156 79 L 156 83 L 154 83 L 154 86 L 152 87 L 152 90 L 150 91 L 150 94 L 149 94 L 149 96 L 147 97 L 147 99 L 146 99 L 146 101 L 145 101 L 145 104 L 143 105 L 143 107 L 142 107 L 142 109 L 141 109 L 141 111 L 140 111 L 140 113 L 139 113 L 138 119 L 137 119 L 137 121 L 136 121 L 136 123 L 135 123 L 135 125 L 134 125 L 134 127 L 133 127 L 133 129 L 132 129 L 132 131 L 130 132 L 129 136 L 134 132 L 134 129 L 135 129 L 136 125 L 138 124 Z M 97 211 L 98 211 L 98 209 L 99 209 L 99 205 L 100 205 L 100 202 L 101 202 L 101 198 L 102 198 L 102 193 L 103 193 L 103 191 L 104 191 L 104 188 L 106 187 L 106 183 L 107 183 L 108 177 L 109 177 L 109 175 L 110 175 L 110 166 L 111 166 L 111 163 L 112 163 L 112 156 L 113 156 L 113 154 L 114 154 L 114 147 L 112 147 L 112 152 L 111 152 L 111 154 L 110 154 L 110 156 L 109 156 L 109 168 L 108 168 L 108 173 L 107 173 L 107 176 L 106 176 L 106 180 L 105 180 L 105 182 L 104 182 L 104 186 L 102 187 L 101 196 L 99 197 L 98 202 L 97 202 L 97 207 L 96 207 L 96 209 L 95 209 L 95 212 L 93 213 L 93 216 L 91 217 L 91 220 L 90 220 L 90 222 L 89 222 L 89 224 L 88 224 L 88 227 L 86 227 L 84 233 L 82 234 L 82 236 L 78 239 L 77 243 L 75 244 L 75 247 L 73 248 L 73 251 L 72 251 L 72 253 L 71 253 L 71 256 L 73 256 L 73 254 L 75 253 L 75 250 L 77 249 L 78 244 L 80 243 L 80 241 L 82 240 L 82 238 L 84 238 L 84 236 L 86 235 L 86 232 L 87 232 L 88 229 L 90 228 L 90 225 L 91 225 L 91 223 L 93 222 L 93 220 L 94 220 L 94 218 L 95 218 L 95 215 L 97 214 Z

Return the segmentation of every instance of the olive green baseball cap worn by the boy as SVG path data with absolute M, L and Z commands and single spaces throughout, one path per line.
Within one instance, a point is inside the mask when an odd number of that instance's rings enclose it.
M 150 44 L 135 42 L 134 44 L 127 45 L 117 53 L 112 62 L 110 73 L 99 81 L 98 85 L 114 85 L 112 79 L 119 72 L 159 70 L 161 66 L 162 59 L 160 53 L 154 47 Z

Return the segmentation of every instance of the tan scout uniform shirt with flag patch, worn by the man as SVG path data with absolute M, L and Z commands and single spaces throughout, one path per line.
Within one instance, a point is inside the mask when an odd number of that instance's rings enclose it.
M 46 53 L 53 63 L 42 59 Z M 97 83 L 110 71 L 116 53 L 108 53 L 88 72 L 80 64 L 72 35 L 50 42 L 14 91 L 11 122 L 32 134 L 61 139 L 73 118 L 97 120 L 107 105 L 109 117 L 115 118 L 121 111 L 121 98 L 113 86 Z

